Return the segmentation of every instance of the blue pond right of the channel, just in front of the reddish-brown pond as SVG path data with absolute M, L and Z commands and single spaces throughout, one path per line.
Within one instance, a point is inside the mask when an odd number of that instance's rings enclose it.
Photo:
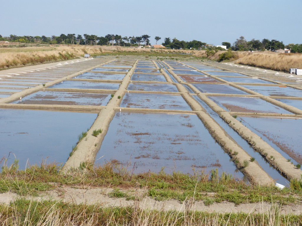
M 224 84 L 192 84 L 201 93 L 248 94 L 240 89 Z

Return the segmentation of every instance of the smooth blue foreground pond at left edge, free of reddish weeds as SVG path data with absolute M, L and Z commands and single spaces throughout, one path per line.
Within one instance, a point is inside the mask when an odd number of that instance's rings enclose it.
M 1 158 L 8 158 L 10 165 L 15 155 L 20 169 L 45 160 L 65 163 L 78 135 L 96 117 L 96 113 L 0 109 Z

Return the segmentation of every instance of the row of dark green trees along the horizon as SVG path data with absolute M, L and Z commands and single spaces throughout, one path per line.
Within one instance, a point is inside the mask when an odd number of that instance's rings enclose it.
M 115 34 L 107 34 L 106 36 L 97 36 L 97 35 L 76 35 L 76 34 L 61 34 L 60 36 L 16 36 L 10 35 L 9 37 L 2 37 L 0 35 L 0 41 L 10 41 L 10 42 L 40 42 L 40 43 L 48 43 L 48 44 L 78 44 L 78 45 L 111 45 L 111 46 L 149 46 L 151 45 L 149 35 L 141 35 L 141 36 L 124 36 L 115 35 Z M 155 42 L 161 40 L 162 38 L 159 36 L 155 36 Z M 210 49 L 215 50 L 216 47 L 207 45 L 206 42 L 201 42 L 197 40 L 192 41 L 180 41 L 176 38 L 171 39 L 170 37 L 164 38 L 164 41 L 161 43 L 166 48 L 171 49 Z M 263 50 L 271 50 L 274 51 L 276 49 L 291 49 L 291 52 L 302 53 L 302 44 L 288 44 L 284 45 L 282 41 L 278 41 L 275 39 L 262 39 L 255 40 L 252 39 L 250 41 L 246 41 L 243 36 L 240 36 L 239 39 L 233 43 L 230 42 L 222 42 L 223 46 L 226 46 L 227 49 L 231 49 L 233 51 L 263 51 Z M 222 50 L 222 49 L 221 49 Z

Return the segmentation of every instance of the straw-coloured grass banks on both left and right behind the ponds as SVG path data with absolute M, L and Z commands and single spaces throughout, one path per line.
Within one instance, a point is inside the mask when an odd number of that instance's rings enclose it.
M 206 55 L 205 50 L 172 50 L 172 49 L 131 49 L 122 46 L 79 46 L 79 45 L 30 45 L 16 43 L 0 44 L 0 70 L 22 67 L 24 65 L 41 64 L 52 61 L 62 61 L 82 57 L 85 53 L 90 55 L 98 54 L 126 54 L 127 55 L 153 55 L 170 56 L 180 53 L 191 53 L 196 58 L 208 58 L 218 60 L 219 55 L 224 51 L 214 52 L 213 55 Z M 168 55 L 169 54 L 169 55 Z M 180 55 L 179 55 L 180 56 Z M 187 55 L 188 56 L 188 55 Z M 299 53 L 275 53 L 265 52 L 235 52 L 236 63 L 261 67 L 275 71 L 287 72 L 289 68 L 302 68 L 302 55 Z

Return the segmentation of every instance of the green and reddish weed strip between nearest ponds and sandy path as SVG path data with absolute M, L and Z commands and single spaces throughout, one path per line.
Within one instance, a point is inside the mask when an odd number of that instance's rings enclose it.
M 277 187 L 247 185 L 243 181 L 232 178 L 223 173 L 218 175 L 213 170 L 211 175 L 193 175 L 174 172 L 158 174 L 147 172 L 132 174 L 113 163 L 94 168 L 90 164 L 83 164 L 80 168 L 67 174 L 61 172 L 56 165 L 30 166 L 25 171 L 18 170 L 16 161 L 10 167 L 2 167 L 0 174 L 0 192 L 14 192 L 21 195 L 36 195 L 40 191 L 54 188 L 52 183 L 66 186 L 94 186 L 133 189 L 144 188 L 147 195 L 156 200 L 176 199 L 185 201 L 194 197 L 195 200 L 204 200 L 208 204 L 228 201 L 236 205 L 240 203 L 255 203 L 259 201 L 279 202 L 283 205 L 301 201 L 301 181 L 293 180 L 291 188 L 280 190 Z M 300 190 L 299 190 L 300 189 Z M 130 195 L 118 194 L 114 190 L 112 197 L 126 197 Z M 210 195 L 208 194 L 210 193 Z

